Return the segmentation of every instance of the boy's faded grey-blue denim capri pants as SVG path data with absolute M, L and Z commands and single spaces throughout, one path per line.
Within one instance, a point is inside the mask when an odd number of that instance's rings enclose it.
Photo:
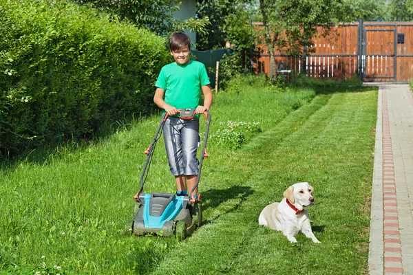
M 198 175 L 196 154 L 200 142 L 199 129 L 198 119 L 169 117 L 165 121 L 162 134 L 172 175 Z

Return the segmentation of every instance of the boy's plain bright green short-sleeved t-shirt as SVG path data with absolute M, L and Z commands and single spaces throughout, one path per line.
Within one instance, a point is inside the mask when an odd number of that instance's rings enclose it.
M 194 109 L 200 104 L 201 87 L 209 85 L 203 63 L 190 61 L 185 65 L 175 62 L 160 70 L 156 87 L 165 90 L 165 102 L 176 109 Z

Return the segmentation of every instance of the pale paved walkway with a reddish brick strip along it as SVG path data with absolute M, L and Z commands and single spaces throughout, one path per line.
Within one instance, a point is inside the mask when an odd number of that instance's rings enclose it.
M 379 87 L 369 270 L 413 274 L 413 96 L 408 85 Z

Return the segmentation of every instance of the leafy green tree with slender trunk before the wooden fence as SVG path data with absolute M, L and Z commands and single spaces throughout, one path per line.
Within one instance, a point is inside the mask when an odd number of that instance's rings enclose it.
M 339 0 L 260 0 L 260 13 L 264 27 L 263 43 L 270 54 L 270 76 L 277 76 L 274 51 L 286 54 L 303 54 L 311 50 L 311 39 L 317 34 L 318 25 L 337 24 L 343 3 Z M 323 36 L 331 28 L 326 25 Z

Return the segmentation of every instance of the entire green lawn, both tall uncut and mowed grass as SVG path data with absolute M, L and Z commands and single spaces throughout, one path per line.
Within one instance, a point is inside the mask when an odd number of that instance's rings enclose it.
M 367 273 L 377 89 L 278 92 L 243 81 L 239 94 L 215 95 L 204 225 L 192 236 L 129 234 L 156 115 L 1 166 L 0 274 Z M 159 143 L 145 192 L 174 192 Z M 291 244 L 258 225 L 262 208 L 299 181 L 315 187 L 309 212 L 321 244 L 303 234 Z

